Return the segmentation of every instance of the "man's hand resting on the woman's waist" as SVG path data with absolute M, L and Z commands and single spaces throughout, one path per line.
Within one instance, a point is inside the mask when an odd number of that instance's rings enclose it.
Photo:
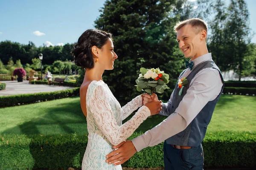
M 137 152 L 137 150 L 134 147 L 134 144 L 130 140 L 126 140 L 125 142 L 122 142 L 117 146 L 113 146 L 113 148 L 118 149 L 112 151 L 106 156 L 106 158 L 108 158 L 106 160 L 108 164 L 123 164 Z

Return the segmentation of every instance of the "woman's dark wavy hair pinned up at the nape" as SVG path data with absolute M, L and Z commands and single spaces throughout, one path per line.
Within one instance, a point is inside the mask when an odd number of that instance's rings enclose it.
M 78 39 L 76 45 L 74 45 L 71 54 L 74 56 L 75 64 L 82 68 L 91 69 L 94 67 L 93 54 L 91 52 L 92 47 L 95 45 L 98 48 L 102 48 L 112 35 L 105 31 L 97 29 L 86 30 Z

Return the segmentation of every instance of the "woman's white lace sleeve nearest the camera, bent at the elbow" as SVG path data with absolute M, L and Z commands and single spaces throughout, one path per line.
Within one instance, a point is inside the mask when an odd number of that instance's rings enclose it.
M 146 106 L 141 107 L 130 120 L 119 126 L 107 99 L 107 91 L 99 85 L 94 89 L 88 105 L 96 125 L 102 133 L 111 144 L 118 145 L 131 136 L 139 125 L 150 116 L 150 110 Z

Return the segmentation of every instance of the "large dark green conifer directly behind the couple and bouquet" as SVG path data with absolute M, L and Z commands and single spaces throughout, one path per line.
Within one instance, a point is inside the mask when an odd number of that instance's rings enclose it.
M 178 18 L 170 17 L 175 6 L 175 0 L 107 0 L 100 10 L 95 27 L 113 34 L 119 56 L 104 80 L 119 99 L 126 102 L 139 94 L 134 85 L 141 67 L 159 67 L 177 79 L 183 61 L 173 31 Z

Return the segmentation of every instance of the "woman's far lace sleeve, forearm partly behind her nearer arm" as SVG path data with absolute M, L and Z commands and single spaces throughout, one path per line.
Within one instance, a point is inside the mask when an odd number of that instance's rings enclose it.
M 122 107 L 122 120 L 126 119 L 132 112 L 142 106 L 142 96 L 137 96 Z

